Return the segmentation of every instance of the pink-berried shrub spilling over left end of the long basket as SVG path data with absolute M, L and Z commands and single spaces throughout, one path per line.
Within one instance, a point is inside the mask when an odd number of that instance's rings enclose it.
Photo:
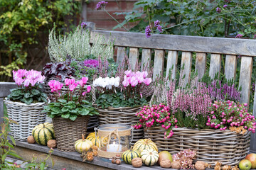
M 137 117 L 139 117 L 139 123 L 134 125 L 135 129 L 142 128 L 143 125 L 146 127 L 156 127 L 161 125 L 162 128 L 166 129 L 164 132 L 164 138 L 170 138 L 174 135 L 172 128 L 175 126 L 177 128 L 176 123 L 178 120 L 174 118 L 174 115 L 171 115 L 169 112 L 170 109 L 168 106 L 165 106 L 163 103 L 159 105 L 153 106 L 144 106 L 141 108 L 139 112 L 136 113 Z

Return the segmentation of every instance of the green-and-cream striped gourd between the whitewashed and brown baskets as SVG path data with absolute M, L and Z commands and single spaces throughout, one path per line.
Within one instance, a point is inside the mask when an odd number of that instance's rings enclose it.
M 43 123 L 36 125 L 32 130 L 32 136 L 39 145 L 47 145 L 49 140 L 54 140 L 53 124 Z

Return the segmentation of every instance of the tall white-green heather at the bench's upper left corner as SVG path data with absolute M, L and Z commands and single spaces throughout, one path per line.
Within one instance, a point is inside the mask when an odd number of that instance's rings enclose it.
M 113 57 L 113 45 L 109 41 L 105 45 L 105 38 L 95 36 L 92 47 L 90 46 L 90 32 L 78 26 L 68 35 L 56 36 L 55 28 L 50 31 L 48 52 L 51 62 L 63 62 L 70 55 L 73 59 L 84 60 L 85 56 L 101 56 L 107 59 Z

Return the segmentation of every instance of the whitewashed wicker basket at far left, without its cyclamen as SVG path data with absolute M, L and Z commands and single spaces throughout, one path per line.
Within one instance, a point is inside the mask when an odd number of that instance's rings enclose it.
M 26 141 L 36 125 L 46 122 L 46 113 L 43 106 L 46 103 L 31 103 L 29 105 L 21 102 L 4 100 L 8 117 L 15 120 L 18 125 L 11 123 L 11 135 L 15 140 Z

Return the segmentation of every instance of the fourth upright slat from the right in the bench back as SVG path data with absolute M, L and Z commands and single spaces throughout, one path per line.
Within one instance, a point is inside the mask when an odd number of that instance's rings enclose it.
M 198 79 L 201 79 L 203 74 L 206 73 L 206 60 L 206 53 L 196 53 L 196 70 L 198 72 Z

